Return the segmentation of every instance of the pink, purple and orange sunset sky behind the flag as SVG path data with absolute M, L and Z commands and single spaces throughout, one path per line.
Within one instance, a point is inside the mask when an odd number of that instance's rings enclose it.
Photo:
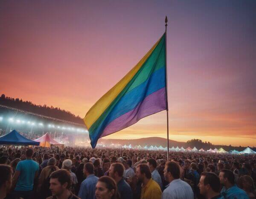
M 167 27 L 170 139 L 256 146 L 256 1 L 0 1 L 0 94 L 84 117 Z M 166 111 L 105 138 L 166 137 Z

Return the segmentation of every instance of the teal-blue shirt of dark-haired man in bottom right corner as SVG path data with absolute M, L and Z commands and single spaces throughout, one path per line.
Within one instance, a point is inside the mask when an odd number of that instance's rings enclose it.
M 224 196 L 225 199 L 249 199 L 247 193 L 234 185 L 226 190 L 226 187 L 223 187 L 221 190 L 221 195 Z

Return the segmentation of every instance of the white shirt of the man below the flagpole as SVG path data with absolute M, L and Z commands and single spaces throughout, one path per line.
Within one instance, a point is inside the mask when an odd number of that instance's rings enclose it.
M 166 186 L 162 199 L 194 199 L 194 193 L 188 183 L 175 179 Z

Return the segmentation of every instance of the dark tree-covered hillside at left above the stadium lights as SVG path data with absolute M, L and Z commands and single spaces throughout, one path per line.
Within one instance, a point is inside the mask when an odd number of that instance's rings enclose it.
M 20 110 L 28 111 L 28 112 L 33 112 L 40 115 L 45 115 L 52 118 L 58 118 L 61 120 L 67 120 L 67 121 L 76 122 L 79 124 L 84 124 L 82 118 L 80 118 L 79 116 L 76 116 L 69 111 L 61 110 L 60 108 L 57 108 L 57 107 L 55 108 L 52 106 L 48 107 L 46 104 L 44 104 L 43 106 L 36 105 L 36 104 L 33 104 L 31 101 L 23 101 L 22 99 L 19 99 L 19 98 L 15 99 L 15 98 L 6 97 L 4 94 L 2 94 L 0 97 L 0 104 L 8 107 L 13 107 Z

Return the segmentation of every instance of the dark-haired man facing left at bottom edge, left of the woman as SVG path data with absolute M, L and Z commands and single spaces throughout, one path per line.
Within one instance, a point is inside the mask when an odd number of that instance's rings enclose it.
M 79 197 L 70 192 L 71 185 L 70 172 L 66 169 L 52 172 L 50 175 L 52 196 L 49 196 L 47 199 L 79 199 Z

